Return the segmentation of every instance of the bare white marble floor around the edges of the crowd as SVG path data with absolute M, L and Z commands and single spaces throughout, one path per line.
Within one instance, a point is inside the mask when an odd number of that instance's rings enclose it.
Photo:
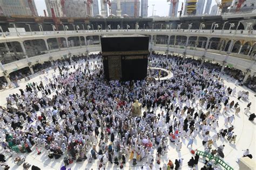
M 51 77 L 53 73 L 53 70 L 49 71 L 49 75 L 48 77 Z M 46 74 L 41 75 L 41 77 L 46 76 Z M 226 86 L 229 86 L 231 88 L 233 88 L 234 82 L 235 80 L 228 77 L 228 76 L 222 76 L 222 78 L 224 79 L 224 83 L 226 84 Z M 40 81 L 39 76 L 31 79 L 28 82 L 21 82 L 19 83 L 19 85 L 21 86 L 20 88 L 25 88 L 25 85 L 29 82 L 33 82 L 33 81 Z M 213 148 L 225 144 L 225 148 L 224 148 L 224 154 L 225 154 L 225 158 L 224 161 L 227 162 L 231 167 L 233 167 L 234 169 L 239 169 L 239 165 L 237 164 L 237 159 L 241 157 L 243 151 L 242 150 L 246 150 L 247 148 L 250 149 L 250 153 L 253 155 L 253 159 L 255 161 L 255 122 L 250 122 L 248 121 L 248 115 L 245 115 L 243 110 L 244 108 L 246 108 L 246 105 L 249 101 L 252 102 L 251 105 L 251 112 L 256 112 L 256 97 L 255 97 L 255 93 L 253 93 L 253 91 L 248 90 L 245 87 L 241 87 L 241 86 L 236 86 L 237 87 L 237 91 L 239 90 L 246 90 L 249 91 L 250 96 L 249 96 L 249 100 L 248 101 L 238 101 L 237 100 L 237 94 L 235 96 L 231 96 L 230 97 L 230 101 L 234 100 L 234 102 L 239 103 L 240 108 L 241 108 L 241 112 L 238 116 L 235 116 L 235 120 L 233 122 L 234 125 L 234 132 L 235 134 L 237 134 L 237 140 L 235 144 L 230 144 L 226 139 L 225 140 L 218 140 L 217 141 L 217 145 L 214 145 Z M 0 91 L 0 105 L 5 106 L 6 105 L 6 101 L 5 101 L 5 97 L 7 97 L 9 94 L 13 94 L 13 93 L 18 93 L 19 94 L 19 88 L 11 88 L 8 90 L 4 90 L 4 91 Z M 157 110 L 157 114 L 158 112 L 161 112 L 162 110 L 158 109 Z M 233 115 L 234 114 L 234 110 L 231 110 L 230 112 L 228 112 L 228 115 Z M 235 114 L 234 114 L 235 115 Z M 227 125 L 224 125 L 224 117 L 220 117 L 219 119 L 219 128 L 223 129 L 223 128 L 227 128 Z M 211 131 L 210 133 L 215 133 L 216 131 Z M 194 150 L 200 150 L 200 151 L 204 151 L 204 146 L 201 144 L 201 136 L 198 136 L 195 140 L 194 140 L 194 144 L 193 144 L 193 149 Z M 183 162 L 183 166 L 182 169 L 189 169 L 189 167 L 187 166 L 187 161 L 193 156 L 190 153 L 190 149 L 186 147 L 188 143 L 188 140 L 183 139 L 183 146 L 181 148 L 180 152 L 176 151 L 176 148 L 174 147 L 173 144 L 169 144 L 169 152 L 162 158 L 161 161 L 161 165 L 156 165 L 156 167 L 154 167 L 153 169 L 159 169 L 159 167 L 162 167 L 163 164 L 167 164 L 168 160 L 171 159 L 173 162 L 175 159 L 178 158 L 183 158 L 184 162 Z M 3 152 L 3 148 L 2 146 L 1 148 L 1 152 Z M 25 154 L 26 155 L 26 161 L 29 162 L 32 165 L 36 165 L 41 169 L 60 169 L 61 166 L 64 165 L 63 162 L 63 156 L 61 158 L 59 158 L 58 160 L 55 159 L 49 159 L 47 153 L 45 152 L 45 150 L 43 148 L 42 149 L 42 154 L 37 155 L 37 151 L 36 151 L 36 147 L 32 147 L 32 153 L 30 154 Z M 156 150 L 154 151 L 156 153 Z M 14 159 L 13 158 L 8 158 L 6 163 L 11 167 L 10 169 L 23 169 L 22 166 L 17 166 L 14 164 Z M 132 166 L 132 161 L 126 161 L 126 165 L 124 165 L 124 169 L 141 169 L 141 166 L 145 164 L 145 162 L 138 162 L 137 166 Z M 203 163 L 200 162 L 199 160 L 199 164 L 198 166 L 195 167 L 195 169 L 200 169 L 203 166 Z M 73 164 L 71 164 L 70 166 L 71 169 L 98 169 L 98 161 L 93 161 L 92 164 L 88 164 L 87 160 L 82 161 L 82 162 L 74 162 Z M 144 166 L 145 169 L 146 166 Z M 107 164 L 106 165 L 106 169 L 118 169 L 119 166 L 113 166 L 112 164 Z

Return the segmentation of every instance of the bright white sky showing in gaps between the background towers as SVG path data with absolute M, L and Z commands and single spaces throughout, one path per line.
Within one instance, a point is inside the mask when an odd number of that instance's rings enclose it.
M 46 10 L 46 5 L 45 5 L 45 0 L 34 0 L 36 3 L 36 8 L 39 16 L 44 16 L 44 9 Z M 86 0 L 85 0 L 86 1 Z M 94 0 L 95 1 L 95 0 Z M 100 0 L 97 0 L 99 3 L 99 9 L 100 9 Z M 154 4 L 154 10 L 156 10 L 156 15 L 160 17 L 165 17 L 168 16 L 169 14 L 169 4 L 170 2 L 167 2 L 168 0 L 149 0 L 149 9 L 148 9 L 148 15 L 147 16 L 152 16 L 152 11 L 153 11 L 153 4 Z M 206 5 L 206 0 L 205 5 Z M 181 9 L 181 3 L 185 2 L 185 0 L 179 0 L 179 6 L 178 6 L 178 11 Z M 212 0 L 212 5 L 215 5 L 215 0 Z M 184 3 L 185 7 L 185 3 Z M 47 12 L 47 10 L 46 10 Z

